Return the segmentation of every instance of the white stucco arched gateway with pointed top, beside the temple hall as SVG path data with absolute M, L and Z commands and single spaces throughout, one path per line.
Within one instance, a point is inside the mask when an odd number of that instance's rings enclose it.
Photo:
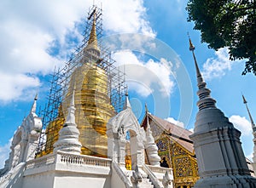
M 131 145 L 131 169 L 141 167 L 144 163 L 144 149 L 148 150 L 148 156 L 152 157 L 151 165 L 159 166 L 160 157 L 157 154 L 157 146 L 150 128 L 145 132 L 137 122 L 137 117 L 131 111 L 131 105 L 126 95 L 123 111 L 112 117 L 107 124 L 108 157 L 114 162 L 125 165 L 125 145 L 129 141 Z

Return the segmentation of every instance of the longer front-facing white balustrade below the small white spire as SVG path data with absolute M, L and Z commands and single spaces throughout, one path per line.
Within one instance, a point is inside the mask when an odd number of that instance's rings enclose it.
M 79 164 L 85 166 L 96 166 L 96 167 L 110 167 L 111 159 L 101 158 L 101 157 L 92 157 L 85 155 L 75 155 L 64 152 L 57 152 L 58 160 L 60 163 L 70 163 L 70 164 Z

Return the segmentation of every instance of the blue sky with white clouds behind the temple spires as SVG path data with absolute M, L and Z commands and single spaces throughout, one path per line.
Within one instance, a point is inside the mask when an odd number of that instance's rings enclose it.
M 141 119 L 147 102 L 151 113 L 188 129 L 194 127 L 198 98 L 189 31 L 207 87 L 217 106 L 241 130 L 245 155 L 251 157 L 253 135 L 241 93 L 256 118 L 255 76 L 241 76 L 244 61 L 230 61 L 227 49 L 215 52 L 201 43 L 200 31 L 187 22 L 186 3 L 102 1 L 104 40 L 108 43 L 119 38 L 122 42 L 113 47 L 113 58 L 117 66 L 125 64 L 133 110 Z M 9 155 L 9 140 L 30 111 L 35 94 L 38 106 L 44 108 L 49 73 L 55 66 L 63 66 L 81 41 L 91 5 L 87 0 L 1 1 L 0 167 Z

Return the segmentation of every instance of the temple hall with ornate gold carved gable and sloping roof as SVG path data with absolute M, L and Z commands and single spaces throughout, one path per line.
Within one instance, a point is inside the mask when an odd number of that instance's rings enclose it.
M 141 126 L 147 128 L 147 124 L 150 124 L 161 162 L 167 163 L 161 166 L 173 170 L 174 187 L 189 188 L 195 185 L 199 176 L 193 141 L 189 138 L 192 132 L 148 111 Z

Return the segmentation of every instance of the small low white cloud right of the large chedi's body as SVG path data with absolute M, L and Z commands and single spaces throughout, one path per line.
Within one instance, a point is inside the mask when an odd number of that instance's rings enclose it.
M 230 122 L 232 122 L 238 130 L 241 131 L 241 135 L 250 135 L 252 134 L 252 125 L 246 119 L 246 117 L 240 117 L 238 115 L 233 115 L 230 118 Z

